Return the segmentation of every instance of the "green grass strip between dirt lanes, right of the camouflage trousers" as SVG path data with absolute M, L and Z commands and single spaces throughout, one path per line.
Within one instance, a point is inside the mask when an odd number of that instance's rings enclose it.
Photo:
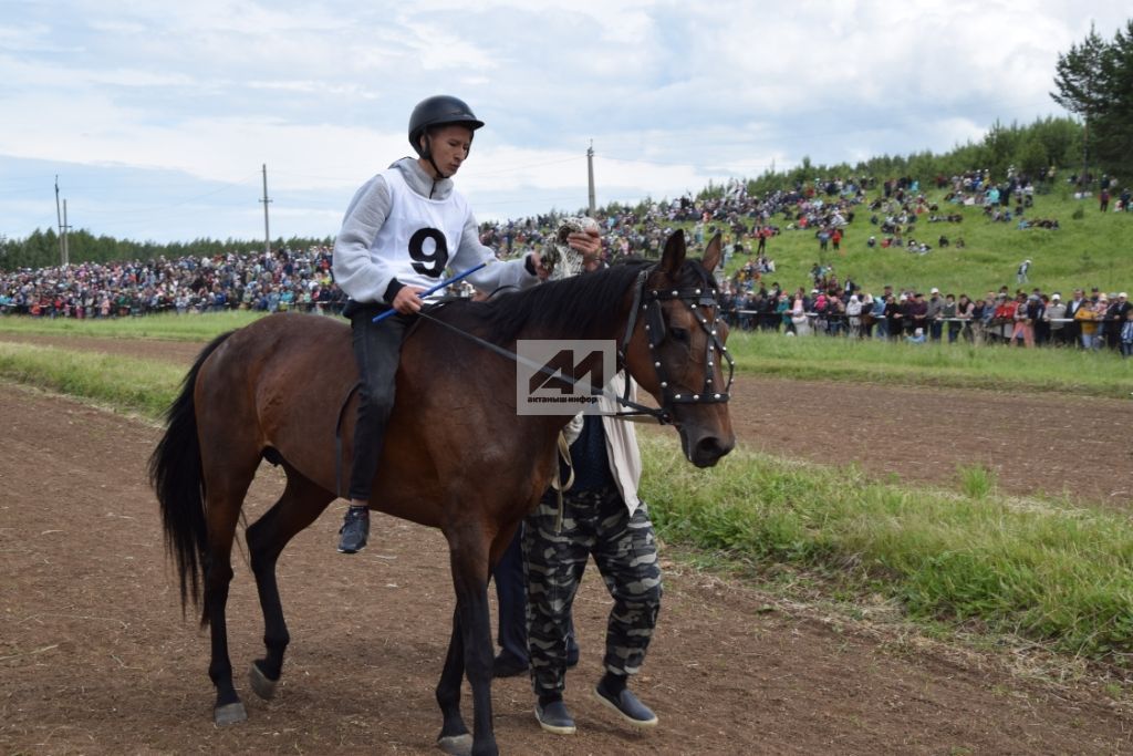
M 1133 524 L 1106 511 L 874 482 L 738 450 L 697 470 L 642 439 L 658 534 L 724 561 L 817 570 L 908 617 L 1117 666 L 1133 653 Z M 986 482 L 985 482 L 986 483 Z M 966 483 L 964 485 L 971 485 Z

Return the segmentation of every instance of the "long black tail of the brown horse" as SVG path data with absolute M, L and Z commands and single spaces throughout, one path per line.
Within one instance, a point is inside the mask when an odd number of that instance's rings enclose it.
M 182 612 L 190 600 L 194 606 L 203 604 L 202 583 L 208 547 L 205 481 L 193 392 L 204 362 L 232 333 L 220 334 L 197 355 L 181 384 L 181 392 L 165 410 L 165 435 L 150 457 L 150 485 L 161 506 L 165 551 L 177 564 Z M 201 625 L 207 622 L 208 615 L 203 612 Z

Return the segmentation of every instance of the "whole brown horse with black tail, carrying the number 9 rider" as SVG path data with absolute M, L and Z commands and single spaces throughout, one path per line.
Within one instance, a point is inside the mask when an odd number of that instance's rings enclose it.
M 403 345 L 390 442 L 370 507 L 437 527 L 449 542 L 457 606 L 436 699 L 443 715 L 440 745 L 450 753 L 497 753 L 488 577 L 547 489 L 568 419 L 518 414 L 516 364 L 501 351 L 514 349 L 517 339 L 614 341 L 619 366 L 654 397 L 658 419 L 676 427 L 692 464 L 714 465 L 734 444 L 726 404 L 731 374 L 721 365 L 726 360 L 730 367 L 731 357 L 726 326 L 716 320 L 712 277 L 719 237 L 702 263 L 684 253 L 678 231 L 654 265 L 615 265 L 486 303 L 444 305 L 423 317 Z M 344 324 L 272 315 L 205 347 L 169 408 L 150 477 L 179 571 L 182 608 L 191 598 L 202 609 L 202 625 L 212 628 L 208 676 L 218 724 L 246 719 L 232 685 L 224 606 L 248 486 L 264 459 L 287 475 L 279 501 L 246 534 L 266 646 L 265 656 L 252 664 L 250 685 L 271 698 L 289 642 L 275 563 L 287 543 L 335 499 L 343 460 L 350 459 L 356 381 Z M 460 714 L 466 671 L 472 737 Z

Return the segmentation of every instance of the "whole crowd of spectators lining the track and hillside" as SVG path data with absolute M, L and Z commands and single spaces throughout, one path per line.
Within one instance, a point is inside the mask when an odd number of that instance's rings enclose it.
M 1008 171 L 993 182 L 986 171 L 951 178 L 937 177 L 945 203 L 980 205 L 991 221 L 1012 220 L 1025 229 L 1057 221 L 1032 219 L 1034 184 Z M 1125 292 L 1089 295 L 1022 288 L 1014 294 L 1003 287 L 983 297 L 942 294 L 935 287 L 926 296 L 915 289 L 880 292 L 862 290 L 852 279 L 840 280 L 833 265 L 815 264 L 809 286 L 786 290 L 777 281 L 768 241 L 784 232 L 813 233 L 818 252 L 840 250 L 847 226 L 866 202 L 868 179 L 829 179 L 793 189 L 750 195 L 747 185 L 732 181 L 715 197 L 642 203 L 636 210 L 600 214 L 603 249 L 613 261 L 624 255 L 656 256 L 678 224 L 691 224 L 690 240 L 702 246 L 723 231 L 729 244 L 725 262 L 736 255 L 747 260 L 723 282 L 722 311 L 733 328 L 807 335 L 813 333 L 859 338 L 908 339 L 914 342 L 996 341 L 1026 347 L 1076 345 L 1133 351 L 1133 315 Z M 1122 193 L 1118 204 L 1128 209 Z M 1012 210 L 1014 203 L 1014 210 Z M 919 182 L 910 178 L 885 181 L 868 206 L 869 222 L 883 236 L 870 235 L 869 247 L 905 247 L 927 254 L 931 246 L 914 233 L 920 222 L 960 224 L 963 215 L 926 199 Z M 1006 218 L 1004 215 L 1007 214 Z M 482 239 L 510 257 L 539 248 L 551 238 L 560 215 L 485 223 Z M 925 236 L 925 235 L 920 235 Z M 963 246 L 963 237 L 939 233 L 938 247 Z M 301 311 L 338 313 L 346 304 L 331 275 L 331 249 L 280 248 L 272 253 L 213 257 L 179 257 L 123 263 L 82 263 L 61 267 L 0 273 L 0 313 L 50 317 L 116 317 L 156 312 L 202 313 L 224 309 L 261 312 Z M 1029 262 L 1029 261 L 1026 261 Z M 1021 270 L 1025 267 L 1021 266 Z M 1025 270 L 1019 282 L 1025 282 Z M 468 294 L 467 287 L 458 292 Z M 1126 328 L 1126 322 L 1131 325 Z M 1128 339 L 1125 339 L 1127 333 Z M 1124 346 L 1123 346 L 1124 345 Z

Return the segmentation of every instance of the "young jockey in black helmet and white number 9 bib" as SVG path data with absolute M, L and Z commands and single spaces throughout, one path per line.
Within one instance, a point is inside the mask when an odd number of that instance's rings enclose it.
M 538 253 L 496 262 L 480 244 L 476 219 L 452 177 L 468 159 L 484 121 L 450 95 L 421 100 L 409 117 L 409 144 L 417 158 L 402 158 L 358 189 L 334 241 L 332 271 L 350 297 L 358 363 L 358 415 L 347 509 L 339 551 L 352 554 L 369 535 L 369 500 L 385 426 L 393 409 L 394 376 L 401 341 L 424 301 L 420 292 L 446 269 L 466 271 L 489 263 L 466 279 L 480 290 L 528 287 L 546 278 Z M 572 239 L 588 248 L 597 241 Z M 591 249 L 593 252 L 593 249 Z M 386 311 L 395 314 L 374 323 Z

